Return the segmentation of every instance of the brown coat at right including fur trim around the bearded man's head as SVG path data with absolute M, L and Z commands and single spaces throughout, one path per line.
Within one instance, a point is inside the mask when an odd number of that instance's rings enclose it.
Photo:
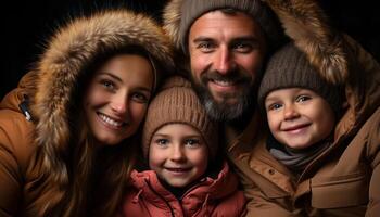
M 174 43 L 182 0 L 166 9 Z M 350 37 L 329 27 L 315 1 L 263 0 L 286 35 L 327 80 L 343 84 L 349 108 L 334 143 L 299 179 L 265 149 L 267 132 L 256 110 L 241 135 L 227 135 L 227 154 L 250 199 L 248 216 L 376 216 L 380 213 L 380 66 Z

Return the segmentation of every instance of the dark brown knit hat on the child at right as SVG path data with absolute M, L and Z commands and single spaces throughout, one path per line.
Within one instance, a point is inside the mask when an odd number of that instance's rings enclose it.
M 322 97 L 339 114 L 342 104 L 342 88 L 320 77 L 311 65 L 305 53 L 290 42 L 277 51 L 269 60 L 258 90 L 258 104 L 264 110 L 266 97 L 274 90 L 283 88 L 305 88 Z

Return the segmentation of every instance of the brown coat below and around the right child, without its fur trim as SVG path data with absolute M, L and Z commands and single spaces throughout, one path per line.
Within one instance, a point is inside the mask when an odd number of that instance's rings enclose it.
M 248 216 L 379 215 L 380 67 L 356 43 L 350 46 L 362 64 L 350 73 L 362 78 L 347 81 L 349 108 L 337 125 L 333 144 L 300 177 L 267 151 L 257 114 L 229 144 L 228 154 L 250 199 Z

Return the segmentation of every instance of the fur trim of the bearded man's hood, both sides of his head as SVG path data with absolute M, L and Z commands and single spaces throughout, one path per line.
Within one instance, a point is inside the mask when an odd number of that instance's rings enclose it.
M 172 0 L 164 9 L 164 29 L 176 49 L 180 49 L 178 33 L 183 0 Z M 347 58 L 342 37 L 333 31 L 316 1 L 262 0 L 279 17 L 284 33 L 306 53 L 322 77 L 332 84 L 347 78 Z

